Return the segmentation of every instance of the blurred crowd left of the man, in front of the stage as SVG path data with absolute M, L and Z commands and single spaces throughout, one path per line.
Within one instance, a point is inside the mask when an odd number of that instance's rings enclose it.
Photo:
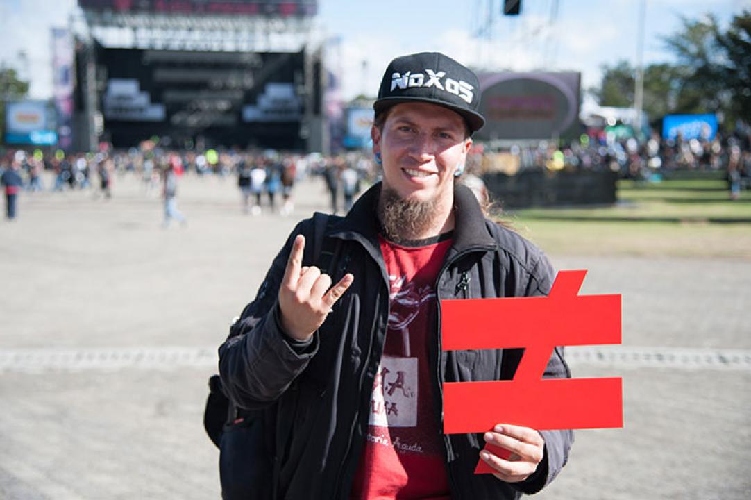
M 176 191 L 182 176 L 223 177 L 237 180 L 243 213 L 290 214 L 294 209 L 292 192 L 296 180 L 308 175 L 322 179 L 322 192 L 330 195 L 333 213 L 347 211 L 360 192 L 363 181 L 372 182 L 374 164 L 363 153 L 324 156 L 313 153 L 279 153 L 274 150 L 207 150 L 204 152 L 166 150 L 146 141 L 129 150 L 97 153 L 62 153 L 41 150 L 8 150 L 0 154 L 0 175 L 12 192 L 8 210 L 15 217 L 18 193 L 91 191 L 95 198 L 113 196 L 116 177 L 133 175 L 143 192 L 161 194 L 164 199 L 164 225 L 170 221 L 185 224 L 176 207 Z M 5 174 L 7 172 L 7 174 Z M 47 176 L 43 176 L 47 172 Z M 47 179 L 47 185 L 45 185 Z

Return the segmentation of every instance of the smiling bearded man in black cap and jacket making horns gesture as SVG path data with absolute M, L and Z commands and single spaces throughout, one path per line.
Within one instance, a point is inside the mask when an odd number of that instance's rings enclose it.
M 442 352 L 439 301 L 544 295 L 553 281 L 537 248 L 455 185 L 478 100 L 475 74 L 447 56 L 394 59 L 374 105 L 383 180 L 328 230 L 332 276 L 303 265 L 303 221 L 220 348 L 231 402 L 273 414 L 273 498 L 519 498 L 566 463 L 570 431 L 442 434 L 442 383 L 509 379 L 521 353 Z M 557 349 L 545 376 L 569 376 Z M 478 459 L 495 473 L 474 474 Z

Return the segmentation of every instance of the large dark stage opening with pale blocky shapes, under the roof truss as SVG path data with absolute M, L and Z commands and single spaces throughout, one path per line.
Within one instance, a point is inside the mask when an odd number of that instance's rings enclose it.
M 106 138 L 303 149 L 305 54 L 100 47 Z

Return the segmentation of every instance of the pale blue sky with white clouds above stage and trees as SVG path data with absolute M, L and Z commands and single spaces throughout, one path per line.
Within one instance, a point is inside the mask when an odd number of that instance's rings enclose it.
M 330 65 L 342 98 L 373 95 L 396 56 L 439 51 L 482 70 L 581 71 L 596 86 L 602 65 L 637 61 L 641 0 L 522 0 L 518 17 L 499 14 L 501 0 L 319 0 L 318 32 L 336 41 Z M 670 62 L 661 37 L 680 17 L 707 13 L 727 26 L 751 0 L 644 0 L 644 64 Z M 32 98 L 52 95 L 50 28 L 65 27 L 75 0 L 0 0 L 0 64 L 31 80 Z M 556 8 L 557 7 L 557 8 Z M 478 36 L 478 33 L 481 33 Z M 26 57 L 20 57 L 24 53 Z

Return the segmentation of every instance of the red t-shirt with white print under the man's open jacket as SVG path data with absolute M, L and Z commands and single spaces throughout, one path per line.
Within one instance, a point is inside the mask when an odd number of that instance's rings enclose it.
M 448 499 L 428 335 L 436 335 L 436 276 L 451 239 L 420 247 L 379 241 L 391 309 L 368 435 L 350 496 Z

